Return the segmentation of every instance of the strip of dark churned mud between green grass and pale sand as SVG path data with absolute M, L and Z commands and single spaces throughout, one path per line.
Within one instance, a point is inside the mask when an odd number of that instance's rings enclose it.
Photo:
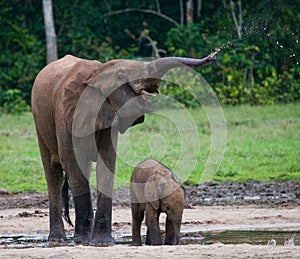
M 300 182 L 224 182 L 186 186 L 186 207 L 213 205 L 300 206 Z M 94 204 L 96 191 L 93 191 Z M 129 207 L 129 188 L 114 190 L 113 205 Z M 72 206 L 72 202 L 71 202 Z M 7 194 L 0 192 L 0 209 L 48 208 L 46 193 Z

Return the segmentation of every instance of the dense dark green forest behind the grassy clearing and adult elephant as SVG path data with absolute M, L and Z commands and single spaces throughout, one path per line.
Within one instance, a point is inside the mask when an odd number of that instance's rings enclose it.
M 58 57 L 105 62 L 221 49 L 201 75 L 222 104 L 300 99 L 299 0 L 52 2 Z M 34 78 L 46 65 L 42 1 L 0 0 L 0 27 L 0 111 L 29 110 Z M 198 105 L 180 87 L 167 89 L 183 105 Z

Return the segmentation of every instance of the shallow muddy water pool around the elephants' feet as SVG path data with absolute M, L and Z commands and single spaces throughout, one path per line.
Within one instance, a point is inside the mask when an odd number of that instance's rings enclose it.
M 145 238 L 145 237 L 143 237 Z M 115 237 L 116 245 L 130 245 L 131 236 Z M 251 244 L 251 245 L 277 245 L 277 246 L 299 246 L 300 231 L 256 231 L 256 230 L 226 230 L 226 231 L 199 231 L 183 233 L 180 244 L 211 245 L 223 244 Z M 51 247 L 58 244 L 49 243 L 47 236 L 43 235 L 0 235 L 0 249 Z M 59 245 L 74 246 L 71 235 L 68 240 Z

